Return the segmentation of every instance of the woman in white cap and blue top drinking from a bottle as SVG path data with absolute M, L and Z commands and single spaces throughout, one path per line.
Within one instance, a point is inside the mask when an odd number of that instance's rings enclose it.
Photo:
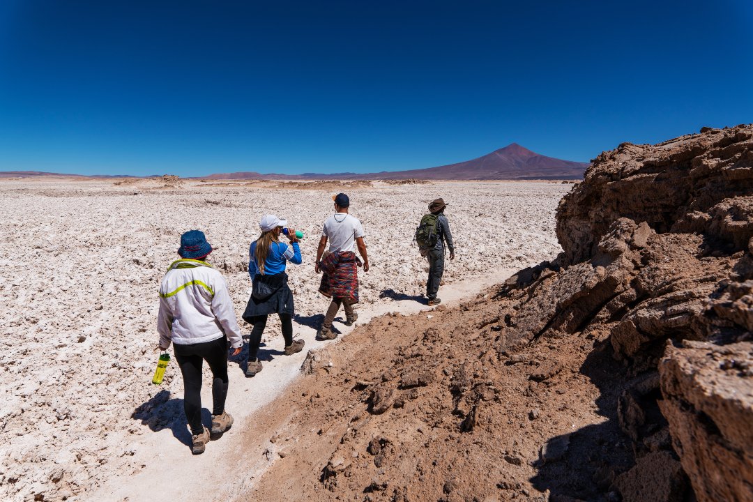
M 255 376 L 261 371 L 258 353 L 268 315 L 276 313 L 280 318 L 282 337 L 285 339 L 285 355 L 300 352 L 305 345 L 302 339 L 293 339 L 292 316 L 295 309 L 285 265 L 288 261 L 300 265 L 301 257 L 294 229 L 287 230 L 290 244 L 279 241 L 282 229 L 287 226 L 287 221 L 280 220 L 274 214 L 267 214 L 259 223 L 261 235 L 248 248 L 248 275 L 251 276 L 252 294 L 243 312 L 243 320 L 254 327 L 251 330 L 251 338 L 248 339 L 245 376 Z

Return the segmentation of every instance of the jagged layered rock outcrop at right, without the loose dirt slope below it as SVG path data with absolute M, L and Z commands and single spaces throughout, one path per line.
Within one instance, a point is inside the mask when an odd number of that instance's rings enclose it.
M 753 126 L 620 145 L 560 202 L 563 254 L 500 291 L 501 354 L 582 332 L 625 368 L 623 500 L 753 500 L 751 194 Z

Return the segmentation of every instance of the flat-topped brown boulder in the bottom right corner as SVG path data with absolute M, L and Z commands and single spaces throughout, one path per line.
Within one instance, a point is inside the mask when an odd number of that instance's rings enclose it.
M 670 346 L 659 371 L 659 405 L 698 499 L 753 500 L 753 343 Z

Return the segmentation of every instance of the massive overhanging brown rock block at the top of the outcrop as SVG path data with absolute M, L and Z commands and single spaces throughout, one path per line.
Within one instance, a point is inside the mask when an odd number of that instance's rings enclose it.
M 590 259 L 618 218 L 742 248 L 753 236 L 751 193 L 753 126 L 623 143 L 596 157 L 584 183 L 559 203 L 557 238 L 570 263 Z

